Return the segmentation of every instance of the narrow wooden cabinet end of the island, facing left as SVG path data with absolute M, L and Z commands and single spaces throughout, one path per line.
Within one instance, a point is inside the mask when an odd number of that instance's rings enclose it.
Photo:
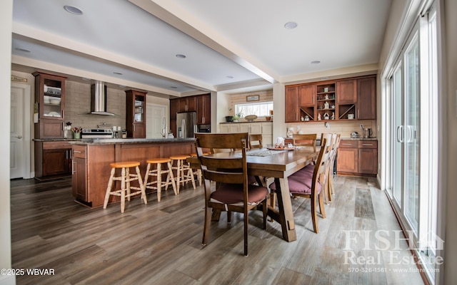
M 73 165 L 71 176 L 71 189 L 76 201 L 86 203 L 89 201 L 87 196 L 87 163 L 86 163 L 86 146 L 74 145 L 73 147 Z

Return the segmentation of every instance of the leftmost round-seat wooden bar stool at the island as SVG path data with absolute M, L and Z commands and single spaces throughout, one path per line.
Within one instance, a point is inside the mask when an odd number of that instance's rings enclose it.
M 109 164 L 111 166 L 111 176 L 109 177 L 108 187 L 106 187 L 105 202 L 103 208 L 106 209 L 108 204 L 109 195 L 121 196 L 121 213 L 124 213 L 126 197 L 130 201 L 131 196 L 141 194 L 141 199 L 144 200 L 144 204 L 148 204 L 146 199 L 146 192 L 144 192 L 143 180 L 141 179 L 139 165 L 140 162 L 137 161 L 126 161 L 126 162 L 113 162 Z M 129 173 L 130 167 L 135 167 L 136 174 Z M 121 168 L 121 176 L 115 176 L 116 168 Z M 111 191 L 111 186 L 113 181 L 121 181 L 121 189 Z M 138 180 L 139 187 L 130 186 L 130 182 Z M 131 190 L 137 190 L 136 192 L 131 192 Z

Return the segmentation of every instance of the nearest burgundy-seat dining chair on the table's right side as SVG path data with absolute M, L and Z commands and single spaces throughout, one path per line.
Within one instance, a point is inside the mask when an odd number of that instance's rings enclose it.
M 311 219 L 313 221 L 313 230 L 318 234 L 317 224 L 317 203 L 323 219 L 326 218 L 326 212 L 323 205 L 323 194 L 326 183 L 326 171 L 330 163 L 330 147 L 326 147 L 326 139 L 323 140 L 323 146 L 319 151 L 316 165 L 307 165 L 301 170 L 293 173 L 288 177 L 288 189 L 292 197 L 306 197 L 311 199 Z M 276 183 L 269 186 L 272 191 L 276 191 Z

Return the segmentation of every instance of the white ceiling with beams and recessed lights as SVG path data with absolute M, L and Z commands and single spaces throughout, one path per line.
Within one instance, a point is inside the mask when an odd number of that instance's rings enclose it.
M 391 0 L 14 0 L 13 69 L 170 96 L 264 90 L 348 67 L 373 69 L 390 6 Z M 298 26 L 284 28 L 288 21 Z

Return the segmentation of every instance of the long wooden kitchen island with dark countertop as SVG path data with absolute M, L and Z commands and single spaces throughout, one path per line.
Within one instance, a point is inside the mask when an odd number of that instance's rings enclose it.
M 88 207 L 100 207 L 104 204 L 111 173 L 110 163 L 139 161 L 141 175 L 144 176 L 146 160 L 149 158 L 189 155 L 195 152 L 194 138 L 82 139 L 69 143 L 73 151 L 73 196 L 76 202 Z M 119 197 L 110 197 L 110 202 L 117 201 Z

